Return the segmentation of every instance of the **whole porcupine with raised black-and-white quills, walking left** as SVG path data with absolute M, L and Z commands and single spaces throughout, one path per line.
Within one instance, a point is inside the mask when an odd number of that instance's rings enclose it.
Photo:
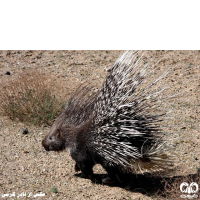
M 148 70 L 149 63 L 141 66 L 142 58 L 138 51 L 126 51 L 98 92 L 80 86 L 43 139 L 44 148 L 68 149 L 75 171 L 92 181 L 95 164 L 107 171 L 106 183 L 116 182 L 119 174 L 169 169 L 172 160 L 160 127 L 165 113 L 156 112 L 162 110 L 162 90 L 151 93 L 164 75 L 152 80 L 156 71 Z

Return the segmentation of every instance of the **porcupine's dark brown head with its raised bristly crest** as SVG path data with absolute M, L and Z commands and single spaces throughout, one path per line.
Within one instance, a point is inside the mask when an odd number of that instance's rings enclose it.
M 71 151 L 76 148 L 79 135 L 83 135 L 83 138 L 80 138 L 81 142 L 86 140 L 84 133 L 89 131 L 89 124 L 91 124 L 89 122 L 93 116 L 91 111 L 94 107 L 94 95 L 85 96 L 89 90 L 90 88 L 86 87 L 77 89 L 65 110 L 55 119 L 49 133 L 42 141 L 42 145 L 47 151 L 65 149 Z M 90 115 L 87 112 L 91 112 Z

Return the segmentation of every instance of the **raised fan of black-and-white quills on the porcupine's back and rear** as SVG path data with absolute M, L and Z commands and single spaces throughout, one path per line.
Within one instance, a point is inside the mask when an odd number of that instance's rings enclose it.
M 157 97 L 165 88 L 154 90 L 154 85 L 166 73 L 158 74 L 144 62 L 143 54 L 126 51 L 117 59 L 94 107 L 97 152 L 110 165 L 134 172 L 171 166 L 163 154 L 165 145 L 156 140 L 162 136 L 159 124 L 165 114 Z M 141 165 L 151 159 L 152 166 Z

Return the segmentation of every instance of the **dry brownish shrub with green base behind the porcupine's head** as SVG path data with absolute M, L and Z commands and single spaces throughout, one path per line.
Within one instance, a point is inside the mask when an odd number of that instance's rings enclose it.
M 38 70 L 25 71 L 1 83 L 1 114 L 34 125 L 51 124 L 65 104 L 56 98 L 52 85 L 52 79 Z

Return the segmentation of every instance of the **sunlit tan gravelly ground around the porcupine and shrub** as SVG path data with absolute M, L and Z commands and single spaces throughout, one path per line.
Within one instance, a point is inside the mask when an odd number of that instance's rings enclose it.
M 62 92 L 57 95 L 67 100 L 83 81 L 100 88 L 108 73 L 107 69 L 122 52 L 0 51 L 1 83 L 25 70 L 37 68 L 54 79 L 53 89 L 59 87 Z M 152 63 L 162 58 L 160 69 L 173 68 L 164 79 L 170 94 L 178 94 L 164 105 L 170 110 L 171 118 L 166 124 L 172 132 L 172 143 L 177 153 L 177 169 L 170 176 L 195 174 L 200 168 L 200 51 L 148 51 L 146 58 Z M 11 75 L 5 75 L 5 71 Z M 25 127 L 29 130 L 27 135 L 21 132 Z M 27 126 L 0 116 L 0 199 L 156 198 L 150 189 L 111 187 L 85 179 L 81 173 L 74 171 L 74 161 L 68 152 L 46 152 L 42 147 L 41 141 L 49 128 Z M 94 172 L 106 173 L 99 165 L 95 166 Z M 173 192 L 180 193 L 180 190 Z M 9 197 L 5 194 L 9 194 Z M 34 197 L 36 194 L 45 196 Z

